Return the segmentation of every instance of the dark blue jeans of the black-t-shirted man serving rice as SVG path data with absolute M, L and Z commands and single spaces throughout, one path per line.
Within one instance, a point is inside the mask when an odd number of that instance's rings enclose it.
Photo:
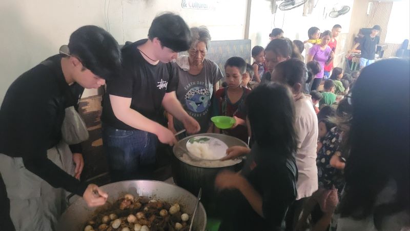
M 103 144 L 111 182 L 135 180 L 141 171 L 153 170 L 158 138 L 142 130 L 120 130 L 103 125 Z

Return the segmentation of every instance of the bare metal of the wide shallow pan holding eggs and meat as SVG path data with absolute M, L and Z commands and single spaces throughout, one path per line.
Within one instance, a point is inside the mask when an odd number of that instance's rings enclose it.
M 169 203 L 179 203 L 181 209 L 191 215 L 196 203 L 196 197 L 189 191 L 161 181 L 121 181 L 101 186 L 101 189 L 108 193 L 108 201 L 111 203 L 125 194 L 146 196 Z M 86 222 L 94 214 L 95 209 L 96 208 L 89 208 L 82 198 L 76 200 L 68 207 L 63 215 L 61 215 L 56 230 L 82 231 Z M 193 230 L 204 231 L 206 224 L 207 214 L 200 203 L 196 211 Z

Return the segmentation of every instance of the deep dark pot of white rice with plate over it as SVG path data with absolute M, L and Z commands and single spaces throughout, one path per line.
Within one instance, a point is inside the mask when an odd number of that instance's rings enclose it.
M 224 134 L 203 133 L 180 140 L 174 147 L 172 175 L 174 182 L 197 195 L 202 188 L 206 206 L 215 199 L 215 177 L 222 170 L 239 171 L 242 159 L 221 161 L 226 149 L 232 146 L 248 147 L 243 141 Z

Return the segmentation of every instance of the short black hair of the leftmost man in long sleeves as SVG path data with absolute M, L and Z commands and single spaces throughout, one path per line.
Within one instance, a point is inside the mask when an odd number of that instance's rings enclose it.
M 70 35 L 68 49 L 70 55 L 100 78 L 115 78 L 121 70 L 119 45 L 103 28 L 92 25 L 78 28 Z

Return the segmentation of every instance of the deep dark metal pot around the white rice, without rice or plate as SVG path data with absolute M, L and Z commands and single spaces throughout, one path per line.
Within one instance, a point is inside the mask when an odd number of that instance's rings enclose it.
M 207 207 L 216 197 L 214 184 L 218 172 L 222 170 L 239 171 L 242 168 L 242 160 L 203 161 L 191 158 L 190 155 L 187 155 L 186 144 L 189 139 L 196 136 L 217 138 L 227 144 L 228 147 L 237 145 L 248 147 L 248 145 L 235 137 L 224 134 L 204 133 L 184 138 L 173 147 L 172 176 L 174 182 L 194 195 L 197 195 L 199 188 L 202 188 L 201 200 Z

